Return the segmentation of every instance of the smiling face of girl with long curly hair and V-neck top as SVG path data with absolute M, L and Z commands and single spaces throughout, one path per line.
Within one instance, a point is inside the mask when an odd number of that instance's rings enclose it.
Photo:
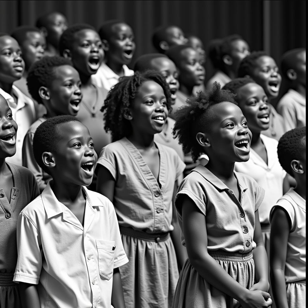
M 133 132 L 154 135 L 163 130 L 168 116 L 163 88 L 154 81 L 145 81 L 138 89 L 130 107 Z

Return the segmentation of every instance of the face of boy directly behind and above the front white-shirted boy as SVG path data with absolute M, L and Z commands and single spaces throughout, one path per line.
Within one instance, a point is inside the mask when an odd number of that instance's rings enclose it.
M 47 103 L 49 108 L 55 115 L 77 115 L 82 100 L 78 72 L 70 65 L 62 65 L 55 67 L 54 73 L 55 79 L 47 87 L 50 95 Z

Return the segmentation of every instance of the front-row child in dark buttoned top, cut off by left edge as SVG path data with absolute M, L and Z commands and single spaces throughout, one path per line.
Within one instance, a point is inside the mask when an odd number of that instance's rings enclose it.
M 39 195 L 33 174 L 6 162 L 16 152 L 17 124 L 0 95 L 0 307 L 21 308 L 23 298 L 13 282 L 17 262 L 16 226 L 20 211 Z

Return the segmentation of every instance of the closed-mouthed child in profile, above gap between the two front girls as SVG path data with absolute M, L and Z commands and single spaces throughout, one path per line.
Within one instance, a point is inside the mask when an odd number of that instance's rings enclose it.
M 205 69 L 201 65 L 199 53 L 188 45 L 171 47 L 166 55 L 175 63 L 179 70 L 180 89 L 170 114 L 170 117 L 174 119 L 176 110 L 185 104 L 188 97 L 194 95 L 193 88 L 203 83 Z

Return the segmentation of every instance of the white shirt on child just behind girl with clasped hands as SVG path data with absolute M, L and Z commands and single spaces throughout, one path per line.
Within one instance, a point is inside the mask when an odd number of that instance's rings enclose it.
M 278 141 L 262 134 L 260 138 L 267 152 L 267 164 L 257 152 L 250 148 L 249 160 L 236 162 L 234 170 L 252 176 L 265 190 L 264 199 L 259 208 L 259 217 L 261 223 L 269 224 L 270 210 L 283 195 L 282 186 L 286 171 L 283 170 L 278 160 Z

